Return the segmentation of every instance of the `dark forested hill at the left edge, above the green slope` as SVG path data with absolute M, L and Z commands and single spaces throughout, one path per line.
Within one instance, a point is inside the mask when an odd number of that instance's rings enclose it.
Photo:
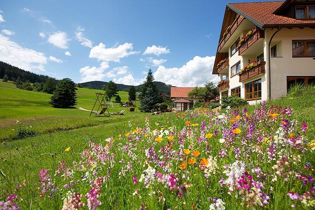
M 22 81 L 29 80 L 31 83 L 46 82 L 46 80 L 50 78 L 49 76 L 31 73 L 29 71 L 25 71 L 8 63 L 0 61 L 0 79 L 2 79 L 5 74 L 8 75 L 9 80 L 14 81 L 18 77 L 20 77 Z

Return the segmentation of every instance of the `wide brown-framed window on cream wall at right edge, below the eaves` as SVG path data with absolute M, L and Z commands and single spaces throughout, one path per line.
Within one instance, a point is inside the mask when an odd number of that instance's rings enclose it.
M 315 40 L 293 40 L 292 57 L 314 57 Z

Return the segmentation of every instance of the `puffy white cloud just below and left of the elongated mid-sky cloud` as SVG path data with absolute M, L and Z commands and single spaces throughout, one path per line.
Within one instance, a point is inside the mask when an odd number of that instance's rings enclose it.
M 81 82 L 89 82 L 95 80 L 102 80 L 105 77 L 104 71 L 109 68 L 108 62 L 103 61 L 100 67 L 83 67 L 80 69 Z

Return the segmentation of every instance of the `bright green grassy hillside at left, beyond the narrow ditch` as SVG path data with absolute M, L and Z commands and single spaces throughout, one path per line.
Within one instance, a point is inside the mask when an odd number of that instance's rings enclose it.
M 77 107 L 92 109 L 95 102 L 95 92 L 100 90 L 89 90 L 78 88 Z M 122 101 L 128 98 L 128 92 L 119 91 Z M 21 121 L 22 126 L 32 126 L 37 133 L 50 132 L 54 130 L 68 130 L 84 126 L 99 125 L 116 121 L 120 116 L 89 117 L 89 112 L 79 109 L 53 108 L 48 103 L 51 95 L 35 91 L 20 90 L 12 83 L 0 81 L 0 140 L 13 138 L 18 128 L 16 120 Z M 110 112 L 118 112 L 127 108 L 119 107 L 119 103 L 113 102 Z M 144 116 L 143 113 L 127 113 L 125 118 Z M 94 115 L 92 115 L 94 116 Z M 12 130 L 14 129 L 14 130 Z

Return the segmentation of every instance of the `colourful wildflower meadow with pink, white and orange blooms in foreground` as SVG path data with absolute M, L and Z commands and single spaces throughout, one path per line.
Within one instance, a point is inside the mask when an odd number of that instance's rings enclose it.
M 312 209 L 314 136 L 292 112 L 263 102 L 131 120 L 65 160 L 45 154 L 32 178 L 1 171 L 0 209 Z

